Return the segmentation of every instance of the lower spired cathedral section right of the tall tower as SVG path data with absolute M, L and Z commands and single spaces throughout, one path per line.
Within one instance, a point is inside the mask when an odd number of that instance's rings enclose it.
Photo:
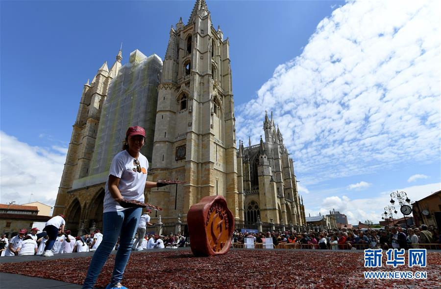
M 275 222 L 303 226 L 305 213 L 303 199 L 299 197 L 294 175 L 294 162 L 283 144 L 283 136 L 274 120 L 265 113 L 263 124 L 265 141 L 248 146 L 239 143 L 237 166 L 241 217 L 245 222 Z

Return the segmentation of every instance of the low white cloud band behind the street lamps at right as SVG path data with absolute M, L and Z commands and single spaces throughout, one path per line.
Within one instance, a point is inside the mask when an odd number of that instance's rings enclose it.
M 412 186 L 407 188 L 398 189 L 398 191 L 404 191 L 407 193 L 411 202 L 416 200 L 421 200 L 434 192 L 441 190 L 441 183 L 431 183 L 420 186 Z M 381 221 L 381 213 L 384 212 L 384 208 L 391 205 L 389 202 L 391 200 L 392 190 L 389 192 L 379 193 L 376 197 L 365 198 L 365 199 L 350 199 L 346 196 L 331 196 L 325 198 L 319 207 L 312 207 L 315 212 L 321 212 L 321 214 L 329 214 L 329 211 L 335 209 L 340 211 L 340 213 L 347 216 L 348 222 L 351 224 L 358 224 L 358 221 L 365 222 L 366 220 L 371 220 L 374 223 Z M 398 211 L 394 218 L 402 218 L 403 215 L 400 213 L 399 205 L 395 202 L 395 209 Z M 306 210 L 305 210 L 306 211 Z M 311 208 L 308 212 L 312 212 Z M 318 215 L 315 213 L 314 216 Z M 313 214 L 311 214 L 313 216 Z

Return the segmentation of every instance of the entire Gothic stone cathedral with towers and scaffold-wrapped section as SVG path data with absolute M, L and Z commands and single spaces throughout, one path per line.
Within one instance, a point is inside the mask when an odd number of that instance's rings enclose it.
M 152 222 L 186 221 L 201 198 L 222 195 L 238 222 L 304 226 L 293 159 L 266 114 L 260 144 L 237 145 L 229 40 L 212 23 L 205 0 L 170 30 L 164 61 L 122 51 L 84 85 L 58 189 L 54 215 L 64 213 L 73 233 L 102 227 L 104 185 L 125 131 L 146 129 L 141 153 L 148 180 L 186 183 L 146 189 L 146 202 L 163 211 Z

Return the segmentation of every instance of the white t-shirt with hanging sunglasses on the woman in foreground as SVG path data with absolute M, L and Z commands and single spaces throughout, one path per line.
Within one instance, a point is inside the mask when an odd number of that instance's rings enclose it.
M 121 195 L 126 200 L 138 200 L 144 202 L 144 188 L 147 181 L 148 160 L 147 157 L 139 153 L 139 163 L 141 165 L 141 173 L 136 171 L 134 164 L 135 158 L 124 150 L 118 153 L 112 160 L 110 165 L 109 175 L 120 178 L 118 189 Z M 123 211 L 125 208 L 120 206 L 109 192 L 109 180 L 106 181 L 105 196 L 104 196 L 104 210 L 106 212 Z

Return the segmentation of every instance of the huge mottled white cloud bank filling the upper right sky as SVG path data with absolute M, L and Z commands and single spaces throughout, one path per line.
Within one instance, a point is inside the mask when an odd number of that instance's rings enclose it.
M 258 143 L 274 112 L 303 185 L 438 161 L 439 1 L 354 1 L 323 19 L 302 54 L 236 108 Z

